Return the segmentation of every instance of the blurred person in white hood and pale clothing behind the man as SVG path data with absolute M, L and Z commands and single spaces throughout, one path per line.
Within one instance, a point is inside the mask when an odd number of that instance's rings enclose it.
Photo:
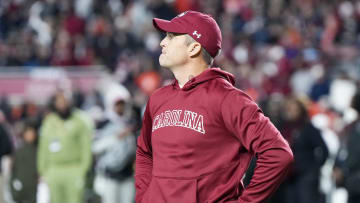
M 96 158 L 95 191 L 102 203 L 133 203 L 136 129 L 129 91 L 112 85 L 105 91 L 106 117 L 93 142 Z

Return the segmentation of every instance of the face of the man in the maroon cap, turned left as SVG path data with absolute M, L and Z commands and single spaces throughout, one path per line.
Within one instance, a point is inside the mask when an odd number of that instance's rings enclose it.
M 187 62 L 186 35 L 166 33 L 166 37 L 160 42 L 162 53 L 159 63 L 162 67 L 172 68 Z

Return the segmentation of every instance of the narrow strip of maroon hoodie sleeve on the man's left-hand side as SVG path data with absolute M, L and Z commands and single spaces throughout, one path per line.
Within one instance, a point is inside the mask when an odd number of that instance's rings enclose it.
M 141 134 L 137 141 L 136 150 L 136 168 L 135 168 L 135 189 L 136 189 L 136 202 L 141 202 L 142 198 L 149 187 L 153 159 L 152 159 L 152 147 L 151 147 L 151 131 L 152 131 L 152 119 L 150 115 L 150 104 L 146 105 L 146 110 L 143 117 L 143 124 Z

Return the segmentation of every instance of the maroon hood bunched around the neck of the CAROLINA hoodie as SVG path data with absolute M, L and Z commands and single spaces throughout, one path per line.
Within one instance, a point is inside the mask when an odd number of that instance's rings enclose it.
M 192 78 L 189 80 L 181 90 L 188 91 L 192 88 L 196 87 L 197 85 L 207 82 L 209 80 L 213 80 L 216 78 L 223 78 L 230 82 L 232 85 L 235 85 L 235 77 L 233 74 L 228 73 L 226 71 L 221 70 L 220 68 L 214 67 L 214 68 L 208 68 L 204 72 L 202 72 L 200 75 Z M 175 80 L 173 83 L 174 87 L 177 89 L 180 89 L 178 85 L 178 81 Z

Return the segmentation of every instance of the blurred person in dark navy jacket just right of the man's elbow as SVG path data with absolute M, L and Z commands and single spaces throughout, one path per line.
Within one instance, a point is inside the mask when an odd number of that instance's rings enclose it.
M 287 202 L 325 203 L 320 176 L 329 151 L 320 130 L 310 120 L 306 102 L 305 98 L 290 97 L 285 103 L 284 136 L 296 160 L 288 179 L 290 199 Z

